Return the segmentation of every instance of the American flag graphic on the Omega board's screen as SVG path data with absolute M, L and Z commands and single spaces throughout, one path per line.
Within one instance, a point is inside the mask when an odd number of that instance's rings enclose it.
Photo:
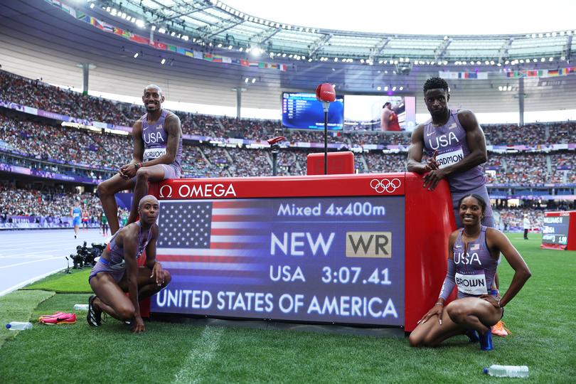
M 267 208 L 256 201 L 161 201 L 156 259 L 179 282 L 261 284 L 270 255 Z

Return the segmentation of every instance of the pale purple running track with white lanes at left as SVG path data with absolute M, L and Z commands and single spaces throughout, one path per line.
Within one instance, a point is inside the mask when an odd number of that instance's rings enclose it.
M 92 242 L 104 240 L 96 228 L 80 230 L 78 239 L 72 229 L 1 230 L 0 296 L 64 270 L 68 266 L 64 257 L 76 253 L 76 246 L 82 242 L 90 247 Z

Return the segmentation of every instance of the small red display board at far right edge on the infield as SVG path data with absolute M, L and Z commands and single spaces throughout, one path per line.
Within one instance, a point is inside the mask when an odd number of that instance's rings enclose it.
M 576 250 L 576 210 L 544 214 L 540 248 Z

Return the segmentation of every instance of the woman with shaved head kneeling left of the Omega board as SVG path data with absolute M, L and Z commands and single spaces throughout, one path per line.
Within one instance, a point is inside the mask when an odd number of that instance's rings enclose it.
M 132 322 L 132 331 L 143 332 L 139 300 L 150 297 L 166 287 L 170 273 L 156 262 L 159 204 L 154 196 L 140 200 L 140 220 L 127 225 L 112 236 L 88 281 L 96 295 L 88 299 L 87 321 L 91 326 L 102 324 L 102 311 L 121 321 Z M 146 265 L 137 259 L 146 250 Z M 129 293 L 129 297 L 125 292 Z

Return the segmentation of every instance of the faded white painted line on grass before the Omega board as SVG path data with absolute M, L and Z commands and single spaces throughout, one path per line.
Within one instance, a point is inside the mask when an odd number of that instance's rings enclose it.
M 206 326 L 184 359 L 182 368 L 176 373 L 173 383 L 198 383 L 202 378 L 203 370 L 215 358 L 224 331 L 225 329 L 220 326 Z

